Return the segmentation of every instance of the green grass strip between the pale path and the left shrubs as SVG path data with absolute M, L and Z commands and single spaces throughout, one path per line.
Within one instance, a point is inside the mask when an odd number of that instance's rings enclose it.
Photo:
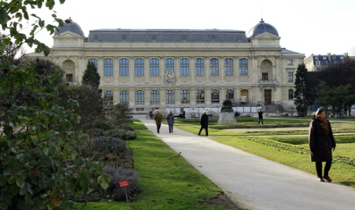
M 201 204 L 216 198 L 222 190 L 193 168 L 183 157 L 135 120 L 132 124 L 138 134 L 136 140 L 127 141 L 133 151 L 135 169 L 139 173 L 141 193 L 130 209 L 196 209 L 223 210 L 225 208 Z M 80 204 L 76 204 L 79 209 Z M 86 210 L 128 209 L 125 202 L 87 203 Z

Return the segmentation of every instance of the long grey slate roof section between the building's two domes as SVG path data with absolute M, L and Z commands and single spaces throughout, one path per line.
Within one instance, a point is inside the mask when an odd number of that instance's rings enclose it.
M 87 42 L 248 42 L 243 30 L 98 29 Z

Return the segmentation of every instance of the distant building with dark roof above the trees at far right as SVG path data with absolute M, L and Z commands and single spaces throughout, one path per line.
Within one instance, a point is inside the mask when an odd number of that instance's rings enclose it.
M 304 59 L 304 64 L 308 71 L 317 71 L 322 67 L 326 67 L 328 64 L 335 64 L 336 62 L 341 62 L 348 56 L 347 53 L 343 55 L 331 55 L 328 53 L 327 55 L 309 55 L 309 57 Z

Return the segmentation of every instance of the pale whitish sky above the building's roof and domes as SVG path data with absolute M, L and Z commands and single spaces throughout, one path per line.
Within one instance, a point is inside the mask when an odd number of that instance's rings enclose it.
M 53 10 L 80 25 L 85 33 L 101 28 L 233 29 L 248 31 L 263 20 L 275 26 L 280 44 L 306 57 L 318 54 L 355 55 L 354 0 L 66 0 Z M 35 10 L 51 22 L 51 13 Z M 37 34 L 50 47 L 45 30 Z M 34 51 L 26 47 L 27 53 Z

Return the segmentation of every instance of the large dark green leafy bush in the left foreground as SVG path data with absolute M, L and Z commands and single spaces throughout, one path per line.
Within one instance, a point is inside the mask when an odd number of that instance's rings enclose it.
M 71 146 L 88 137 L 71 132 L 73 123 L 80 122 L 72 112 L 78 107 L 76 100 L 67 100 L 70 109 L 52 102 L 58 95 L 53 82 L 64 73 L 56 72 L 41 76 L 31 64 L 1 64 L 0 97 L 11 106 L 1 109 L 0 209 L 72 209 L 67 195 L 98 185 L 106 189 L 110 183 L 101 162 L 79 157 Z M 51 89 L 36 85 L 42 82 Z M 26 86 L 37 103 L 19 104 L 8 97 L 20 86 Z

